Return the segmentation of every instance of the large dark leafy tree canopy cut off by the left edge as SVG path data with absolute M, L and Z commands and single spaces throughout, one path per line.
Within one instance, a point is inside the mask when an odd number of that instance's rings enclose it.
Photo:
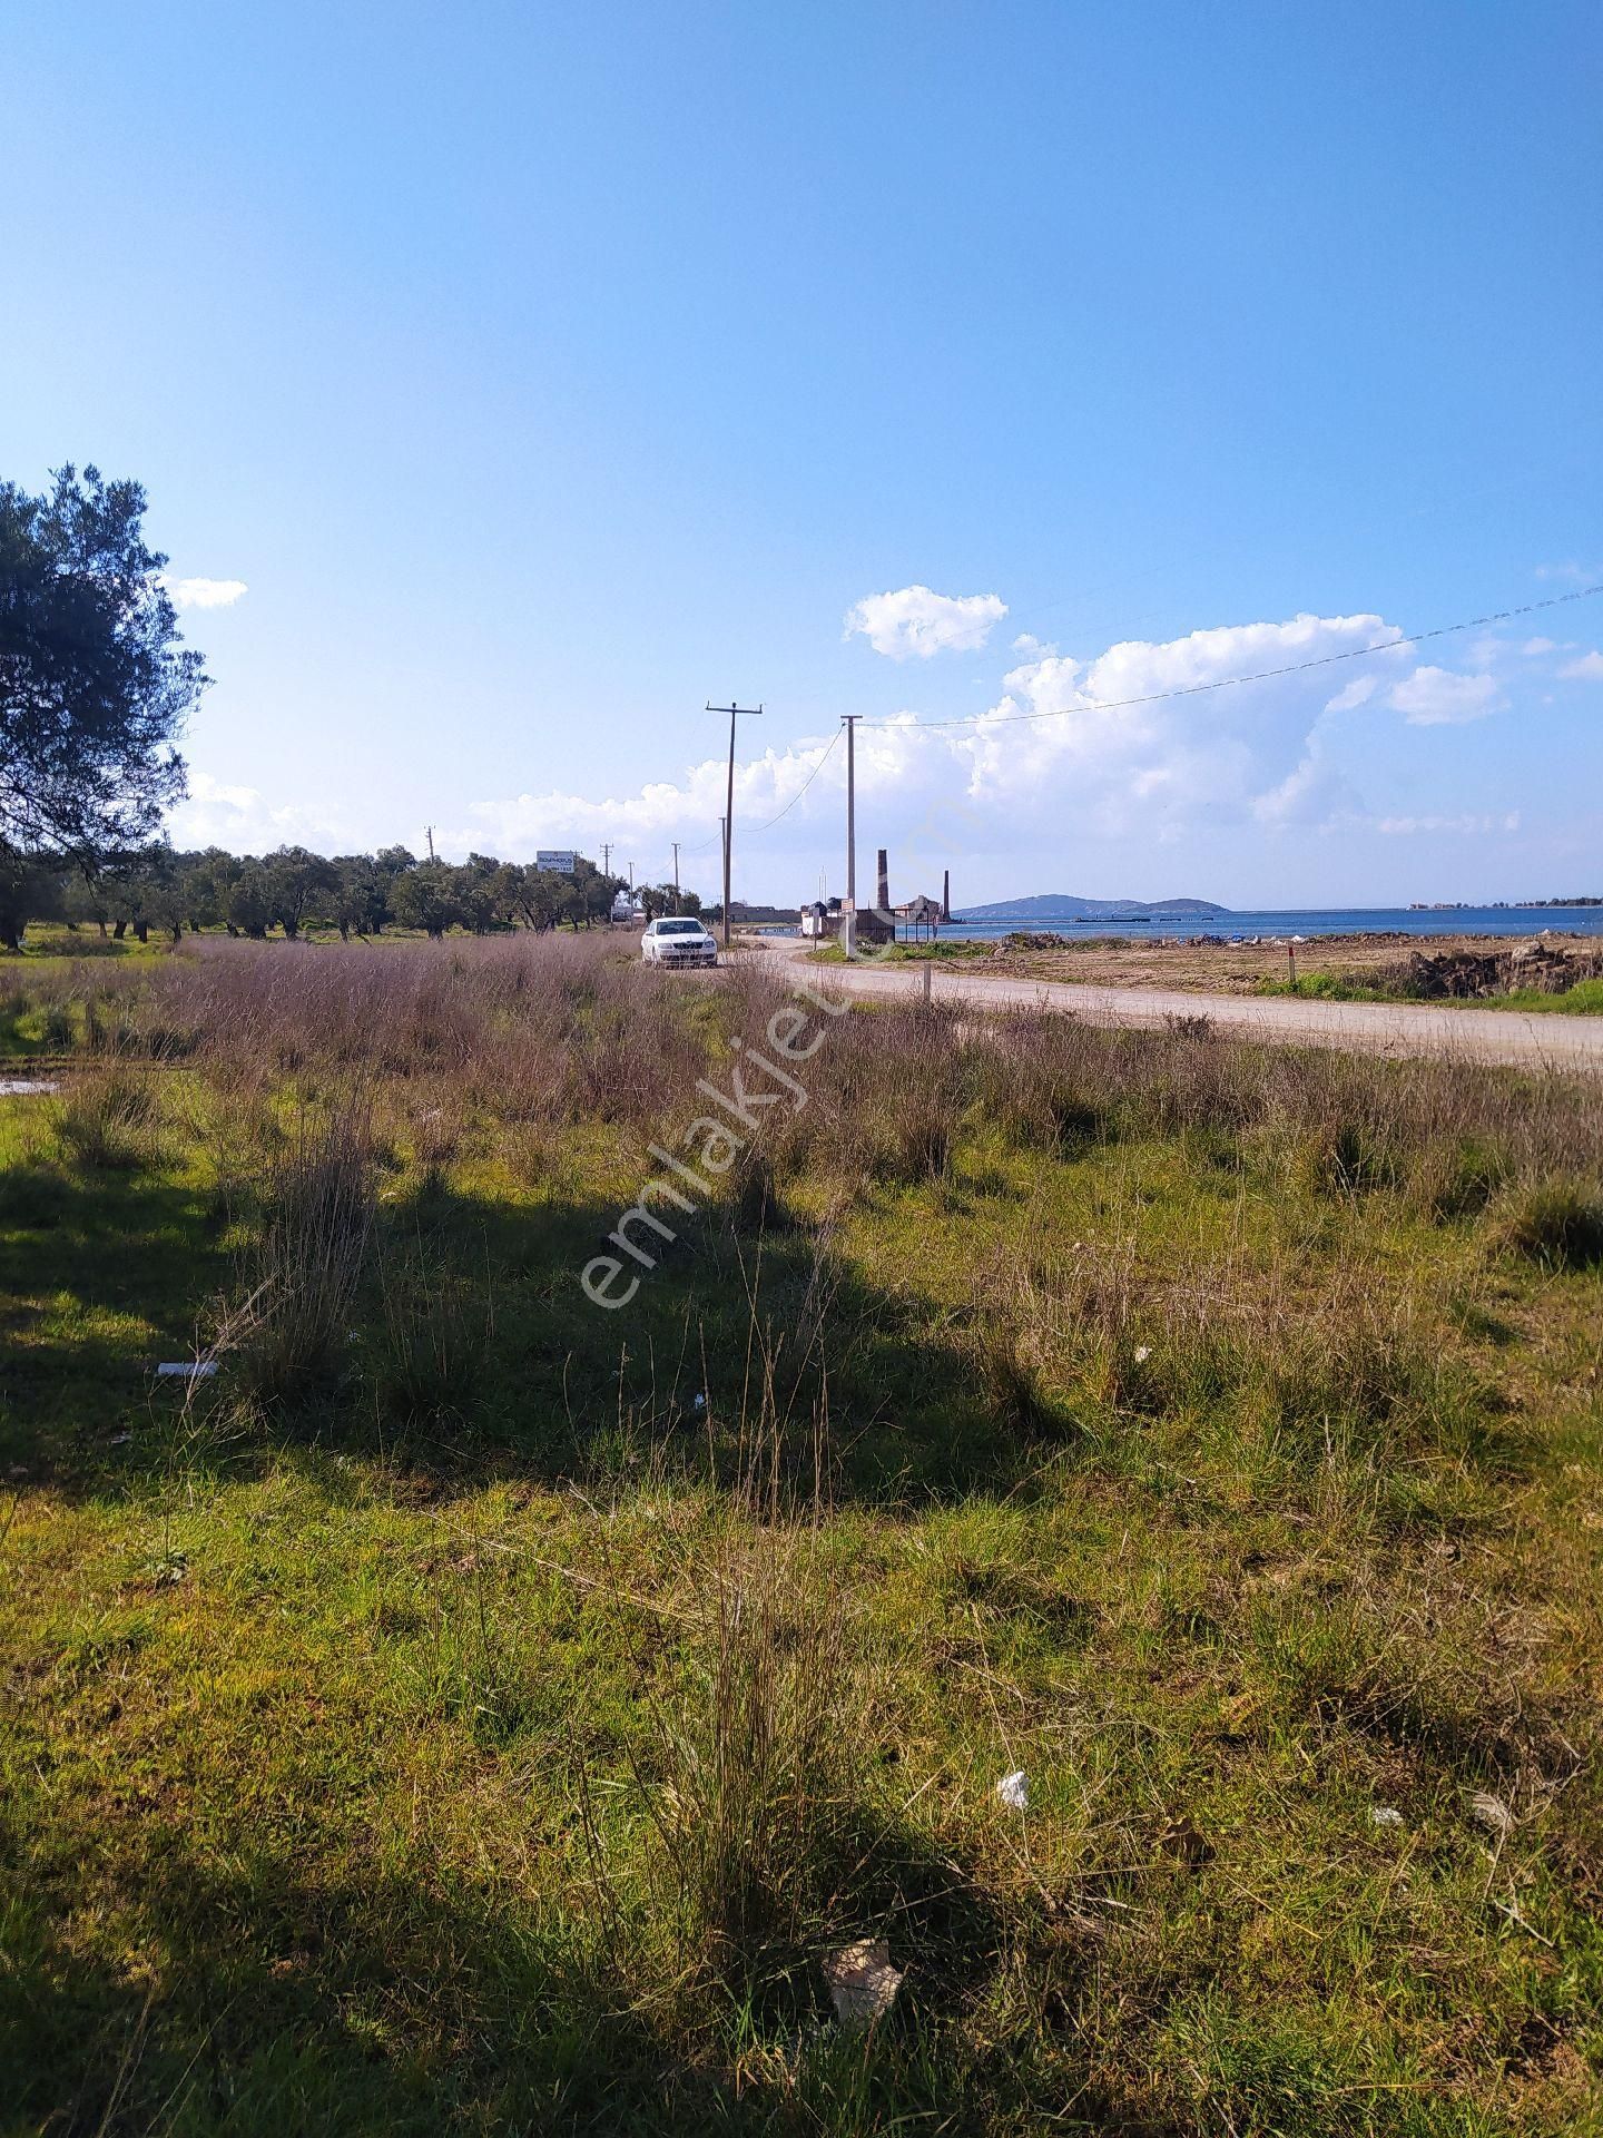
M 207 686 L 143 539 L 145 492 L 58 468 L 0 483 L 0 847 L 94 857 L 184 793 L 175 738 Z

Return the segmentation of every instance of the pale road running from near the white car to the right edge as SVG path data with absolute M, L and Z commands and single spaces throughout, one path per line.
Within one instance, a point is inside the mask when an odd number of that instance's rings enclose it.
M 769 939 L 759 956 L 789 966 L 806 956 L 806 945 Z M 810 986 L 836 994 L 904 1001 L 923 994 L 921 966 L 808 964 L 804 973 Z M 1167 1018 L 1208 1018 L 1220 1033 L 1282 1045 L 1436 1054 L 1453 1060 L 1518 1063 L 1526 1069 L 1603 1075 L 1603 1018 L 1530 1018 L 1515 1009 L 1462 1009 L 1434 1003 L 1312 1003 L 1274 994 L 1190 994 L 1178 988 L 1084 988 L 1071 981 L 1000 975 L 987 979 L 940 966 L 932 966 L 932 998 L 975 1009 L 1056 1009 L 1088 1024 L 1163 1026 Z

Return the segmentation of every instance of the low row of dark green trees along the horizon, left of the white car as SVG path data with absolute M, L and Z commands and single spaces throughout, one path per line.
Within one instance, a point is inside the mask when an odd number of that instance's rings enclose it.
M 143 845 L 120 853 L 32 859 L 0 853 L 0 943 L 21 947 L 28 921 L 94 926 L 100 934 L 167 934 L 222 928 L 233 936 L 291 941 L 308 928 L 338 928 L 342 936 L 374 936 L 387 928 L 442 936 L 451 928 L 494 934 L 509 928 L 590 928 L 605 921 L 622 877 L 605 877 L 579 859 L 575 872 L 554 874 L 526 862 L 498 862 L 470 853 L 466 862 L 419 862 L 406 847 L 378 853 L 310 853 L 278 847 L 274 853 L 227 853 L 205 847 L 180 853 Z M 671 913 L 673 885 L 635 892 L 645 915 Z M 682 913 L 699 913 L 695 892 L 678 894 Z

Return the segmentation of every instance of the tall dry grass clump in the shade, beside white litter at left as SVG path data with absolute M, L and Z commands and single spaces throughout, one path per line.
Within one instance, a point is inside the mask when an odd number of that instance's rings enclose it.
M 301 1114 L 267 1159 L 261 1225 L 246 1255 L 246 1298 L 220 1347 L 265 1409 L 331 1392 L 351 1362 L 351 1319 L 374 1217 L 368 1118 L 357 1107 Z

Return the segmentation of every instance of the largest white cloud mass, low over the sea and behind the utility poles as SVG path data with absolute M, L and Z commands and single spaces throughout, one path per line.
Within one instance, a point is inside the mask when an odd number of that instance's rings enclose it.
M 1389 682 L 1406 661 L 1398 641 L 1379 616 L 1295 616 L 1167 644 L 1131 639 L 1092 661 L 1041 654 L 1022 663 L 975 723 L 925 727 L 911 712 L 866 721 L 857 729 L 861 853 L 889 847 L 893 887 L 906 896 L 938 889 L 940 866 L 977 853 L 1017 866 L 1024 853 L 1052 855 L 1073 840 L 1129 840 L 1139 851 L 1197 827 L 1327 825 L 1361 806 L 1325 738 L 1366 695 L 1351 686 L 1368 678 L 1349 673 L 1332 697 L 1329 667 L 1299 663 L 1355 656 Z M 1235 682 L 1265 669 L 1293 673 Z M 804 879 L 797 894 L 810 894 L 821 862 L 831 887 L 842 887 L 846 753 L 831 742 L 799 740 L 735 768 L 737 896 L 746 885 L 782 885 L 787 872 Z M 613 857 L 658 877 L 678 838 L 686 881 L 712 883 L 722 806 L 725 761 L 707 757 L 675 780 L 607 800 L 549 791 L 483 802 L 447 845 L 524 857 L 536 845 L 596 853 L 609 840 Z

